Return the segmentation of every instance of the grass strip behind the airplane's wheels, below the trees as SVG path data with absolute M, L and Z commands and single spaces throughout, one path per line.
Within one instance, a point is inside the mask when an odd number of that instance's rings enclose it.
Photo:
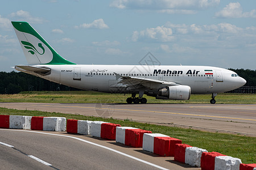
M 14 95 L 0 95 L 0 102 L 28 103 L 126 103 L 130 94 L 106 94 L 90 91 L 40 91 L 20 92 Z M 189 103 L 209 104 L 211 95 L 191 95 L 190 100 L 156 100 L 146 96 L 147 103 Z M 256 94 L 218 94 L 217 104 L 256 104 Z

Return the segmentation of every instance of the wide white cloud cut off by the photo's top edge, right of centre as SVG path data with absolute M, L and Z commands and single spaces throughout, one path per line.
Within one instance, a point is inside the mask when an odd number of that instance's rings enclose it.
M 119 9 L 156 10 L 169 14 L 195 14 L 195 10 L 216 6 L 220 0 L 114 0 L 110 7 Z

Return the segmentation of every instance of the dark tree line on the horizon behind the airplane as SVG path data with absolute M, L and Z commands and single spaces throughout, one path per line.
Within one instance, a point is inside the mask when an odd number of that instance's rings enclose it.
M 245 86 L 256 87 L 256 70 L 229 69 L 235 71 L 247 82 Z M 26 73 L 0 72 L 0 94 L 18 94 L 22 91 L 74 91 L 77 88 L 50 82 Z

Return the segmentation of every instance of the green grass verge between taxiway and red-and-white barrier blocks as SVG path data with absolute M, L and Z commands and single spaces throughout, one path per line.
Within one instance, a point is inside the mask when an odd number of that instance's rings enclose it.
M 22 116 L 55 116 L 66 117 L 75 120 L 106 121 L 121 126 L 132 126 L 134 128 L 151 130 L 152 133 L 170 135 L 170 137 L 181 139 L 184 143 L 204 148 L 209 152 L 216 151 L 221 154 L 240 158 L 242 163 L 255 163 L 256 138 L 241 135 L 210 133 L 200 130 L 173 128 L 152 124 L 143 124 L 132 120 L 115 120 L 113 118 L 89 117 L 79 114 L 49 113 L 41 111 L 21 111 L 16 109 L 0 108 L 0 114 L 22 115 Z

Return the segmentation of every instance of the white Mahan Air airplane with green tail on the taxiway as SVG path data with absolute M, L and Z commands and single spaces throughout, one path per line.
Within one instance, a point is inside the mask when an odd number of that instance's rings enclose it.
M 87 91 L 131 94 L 128 104 L 155 99 L 189 100 L 191 94 L 212 94 L 243 86 L 234 71 L 212 66 L 77 65 L 61 57 L 27 22 L 11 22 L 28 65 L 15 69 L 51 82 Z M 138 94 L 138 97 L 136 95 Z

